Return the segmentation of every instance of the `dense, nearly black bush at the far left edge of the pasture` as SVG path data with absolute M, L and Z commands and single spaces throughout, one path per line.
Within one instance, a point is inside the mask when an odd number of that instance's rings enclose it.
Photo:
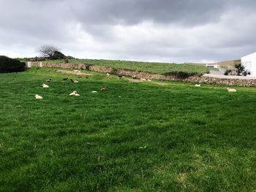
M 0 73 L 23 72 L 25 69 L 26 64 L 24 62 L 0 55 Z

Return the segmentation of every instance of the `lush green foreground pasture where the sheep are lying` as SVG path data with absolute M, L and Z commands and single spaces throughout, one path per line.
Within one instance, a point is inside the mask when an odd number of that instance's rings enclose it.
M 0 74 L 0 191 L 255 191 L 255 88 L 93 74 Z

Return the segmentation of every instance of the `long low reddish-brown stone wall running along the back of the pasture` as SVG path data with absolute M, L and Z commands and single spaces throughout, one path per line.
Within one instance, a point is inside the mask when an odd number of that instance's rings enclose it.
M 256 80 L 245 80 L 245 79 L 220 79 L 215 77 L 199 77 L 192 76 L 186 79 L 181 79 L 176 76 L 165 76 L 162 74 L 152 74 L 149 72 L 136 72 L 132 70 L 124 69 L 113 69 L 104 66 L 93 66 L 90 64 L 54 64 L 54 63 L 42 63 L 42 62 L 31 62 L 31 66 L 48 66 L 58 67 L 65 69 L 88 69 L 94 72 L 112 73 L 118 75 L 125 75 L 136 78 L 150 79 L 150 80 L 171 80 L 171 81 L 183 81 L 183 82 L 199 82 L 207 84 L 222 84 L 222 85 L 240 85 L 240 86 L 256 86 Z

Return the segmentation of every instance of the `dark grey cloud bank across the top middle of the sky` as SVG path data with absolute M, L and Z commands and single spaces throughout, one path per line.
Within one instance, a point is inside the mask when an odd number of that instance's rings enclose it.
M 70 4 L 70 10 L 85 23 L 131 25 L 141 20 L 153 20 L 156 23 L 185 23 L 190 26 L 218 20 L 227 5 L 222 0 L 76 0 L 75 4 Z

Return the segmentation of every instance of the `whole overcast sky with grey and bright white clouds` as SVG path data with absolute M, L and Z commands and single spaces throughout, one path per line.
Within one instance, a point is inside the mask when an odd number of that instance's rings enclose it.
M 256 51 L 255 0 L 0 0 L 0 55 L 208 62 Z

